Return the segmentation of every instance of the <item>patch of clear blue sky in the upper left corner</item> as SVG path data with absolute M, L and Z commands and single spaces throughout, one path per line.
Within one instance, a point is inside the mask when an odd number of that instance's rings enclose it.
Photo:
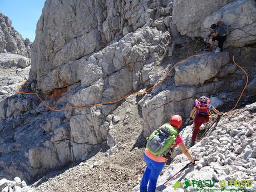
M 0 0 L 0 11 L 9 17 L 22 37 L 35 40 L 36 24 L 45 0 Z

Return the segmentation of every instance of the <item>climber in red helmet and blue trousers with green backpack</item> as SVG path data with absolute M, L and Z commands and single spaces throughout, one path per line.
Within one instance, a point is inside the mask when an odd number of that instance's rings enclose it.
M 154 192 L 156 189 L 157 178 L 166 163 L 166 156 L 176 146 L 179 146 L 184 155 L 188 157 L 192 164 L 198 164 L 191 156 L 189 150 L 184 145 L 178 129 L 181 127 L 182 118 L 179 115 L 173 115 L 170 122 L 156 129 L 147 139 L 146 149 L 144 151 L 144 160 L 146 169 L 142 176 L 140 192 Z M 149 186 L 147 187 L 147 184 Z

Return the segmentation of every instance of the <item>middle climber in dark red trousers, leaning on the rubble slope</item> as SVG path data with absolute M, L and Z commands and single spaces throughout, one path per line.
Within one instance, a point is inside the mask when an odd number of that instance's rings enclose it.
M 194 108 L 190 112 L 190 120 L 194 119 L 194 131 L 191 139 L 191 146 L 195 144 L 196 135 L 198 134 L 199 127 L 208 122 L 211 114 L 210 110 L 213 110 L 216 114 L 221 115 L 213 105 L 210 104 L 210 99 L 206 96 L 201 96 L 194 102 Z

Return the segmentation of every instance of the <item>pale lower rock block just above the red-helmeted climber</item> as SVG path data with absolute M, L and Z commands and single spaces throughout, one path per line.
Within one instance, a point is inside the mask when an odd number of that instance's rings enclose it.
M 146 99 L 142 104 L 144 136 L 149 136 L 152 131 L 169 122 L 170 116 L 178 114 L 188 117 L 193 109 L 194 100 L 201 94 L 210 94 L 220 82 L 208 83 L 203 86 L 171 86 L 169 90 L 161 91 L 152 98 Z

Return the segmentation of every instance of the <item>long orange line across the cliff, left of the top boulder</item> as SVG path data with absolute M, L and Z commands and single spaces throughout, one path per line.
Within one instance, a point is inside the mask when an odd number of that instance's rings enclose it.
M 203 56 L 203 55 L 193 55 L 193 56 L 187 58 L 186 60 L 182 60 L 182 61 L 176 63 L 176 64 L 175 64 L 173 67 L 171 67 L 170 70 L 165 74 L 163 80 L 160 80 L 159 82 L 155 83 L 154 86 L 148 88 L 147 90 L 141 91 L 141 92 L 130 93 L 129 95 L 126 95 L 126 96 L 122 97 L 121 99 L 118 99 L 118 100 L 115 100 L 115 101 L 110 101 L 110 102 L 101 102 L 101 103 L 99 103 L 99 104 L 80 105 L 80 106 L 75 106 L 75 107 L 66 107 L 66 108 L 63 108 L 63 109 L 59 109 L 59 110 L 58 110 L 58 109 L 53 109 L 51 106 L 47 105 L 47 104 L 45 103 L 45 101 L 43 101 L 43 100 L 41 99 L 41 97 L 38 96 L 38 94 L 37 94 L 36 92 L 19 92 L 19 91 L 18 91 L 19 88 L 21 88 L 21 87 L 24 85 L 24 83 L 26 83 L 27 80 L 24 81 L 24 82 L 22 83 L 22 85 L 17 88 L 16 92 L 19 93 L 19 94 L 26 94 L 26 95 L 31 95 L 31 94 L 33 94 L 33 95 L 36 95 L 37 98 L 38 98 L 40 101 L 42 101 L 42 103 L 43 103 L 46 107 L 48 107 L 48 109 L 50 109 L 50 110 L 52 110 L 52 111 L 64 111 L 64 110 L 78 109 L 78 108 L 81 108 L 81 107 L 91 107 L 91 106 L 96 106 L 96 105 L 115 104 L 115 103 L 117 103 L 117 102 L 120 102 L 120 101 L 124 100 L 126 97 L 129 97 L 129 96 L 131 96 L 131 95 L 135 95 L 135 94 L 145 94 L 145 93 L 149 92 L 150 90 L 152 90 L 153 88 L 155 88 L 157 85 L 159 85 L 160 83 L 162 83 L 162 82 L 168 77 L 169 73 L 171 72 L 171 70 L 173 70 L 173 68 L 174 68 L 176 65 L 179 65 L 180 63 L 184 63 L 184 62 L 190 60 L 191 58 L 193 58 L 193 57 L 198 57 L 198 56 Z

